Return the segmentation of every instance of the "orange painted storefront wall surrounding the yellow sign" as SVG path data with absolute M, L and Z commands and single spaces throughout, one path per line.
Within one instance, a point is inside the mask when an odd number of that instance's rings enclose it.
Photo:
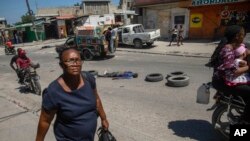
M 189 38 L 191 39 L 213 39 L 223 36 L 225 26 L 221 26 L 221 12 L 228 6 L 229 10 L 250 10 L 250 2 L 223 4 L 223 5 L 210 5 L 210 6 L 197 6 L 189 7 L 190 16 L 192 14 L 202 14 L 203 21 L 201 28 L 189 28 Z M 192 20 L 190 18 L 190 20 Z M 217 32 L 215 30 L 217 29 Z

